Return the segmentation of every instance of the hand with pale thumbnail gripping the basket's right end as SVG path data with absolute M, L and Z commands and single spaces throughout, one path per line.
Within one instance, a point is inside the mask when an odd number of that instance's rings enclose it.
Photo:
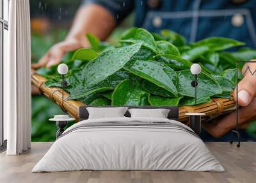
M 256 60 L 255 60 L 256 61 Z M 255 72 L 256 63 L 248 63 L 250 70 Z M 246 70 L 247 64 L 243 67 Z M 256 118 L 256 72 L 254 75 L 246 71 L 244 78 L 238 84 L 238 99 L 236 99 L 236 89 L 233 97 L 239 106 L 239 127 L 245 128 Z M 204 129 L 212 136 L 220 138 L 236 127 L 236 111 L 227 116 L 213 120 L 211 123 L 203 123 Z

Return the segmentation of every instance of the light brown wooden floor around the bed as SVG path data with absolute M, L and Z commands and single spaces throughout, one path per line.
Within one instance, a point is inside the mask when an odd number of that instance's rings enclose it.
M 241 148 L 229 143 L 206 143 L 224 166 L 225 172 L 194 171 L 65 171 L 31 173 L 31 169 L 52 143 L 32 143 L 28 152 L 19 156 L 0 154 L 0 182 L 256 182 L 256 143 L 241 143 Z

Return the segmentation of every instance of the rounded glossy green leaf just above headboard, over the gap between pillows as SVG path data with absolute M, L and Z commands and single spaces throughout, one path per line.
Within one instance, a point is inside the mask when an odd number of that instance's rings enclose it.
M 140 106 L 143 95 L 138 83 L 132 83 L 129 79 L 118 84 L 112 94 L 112 106 Z

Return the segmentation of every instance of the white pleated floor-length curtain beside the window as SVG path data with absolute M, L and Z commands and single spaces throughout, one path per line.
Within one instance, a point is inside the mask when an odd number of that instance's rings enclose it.
M 29 0 L 11 0 L 8 60 L 4 62 L 4 120 L 8 155 L 31 144 L 30 15 Z

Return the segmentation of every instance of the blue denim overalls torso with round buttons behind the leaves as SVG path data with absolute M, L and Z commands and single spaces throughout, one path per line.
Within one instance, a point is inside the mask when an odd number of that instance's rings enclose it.
M 255 23 L 256 1 L 136 1 L 136 26 L 156 33 L 172 29 L 184 35 L 188 42 L 224 36 L 256 48 Z

